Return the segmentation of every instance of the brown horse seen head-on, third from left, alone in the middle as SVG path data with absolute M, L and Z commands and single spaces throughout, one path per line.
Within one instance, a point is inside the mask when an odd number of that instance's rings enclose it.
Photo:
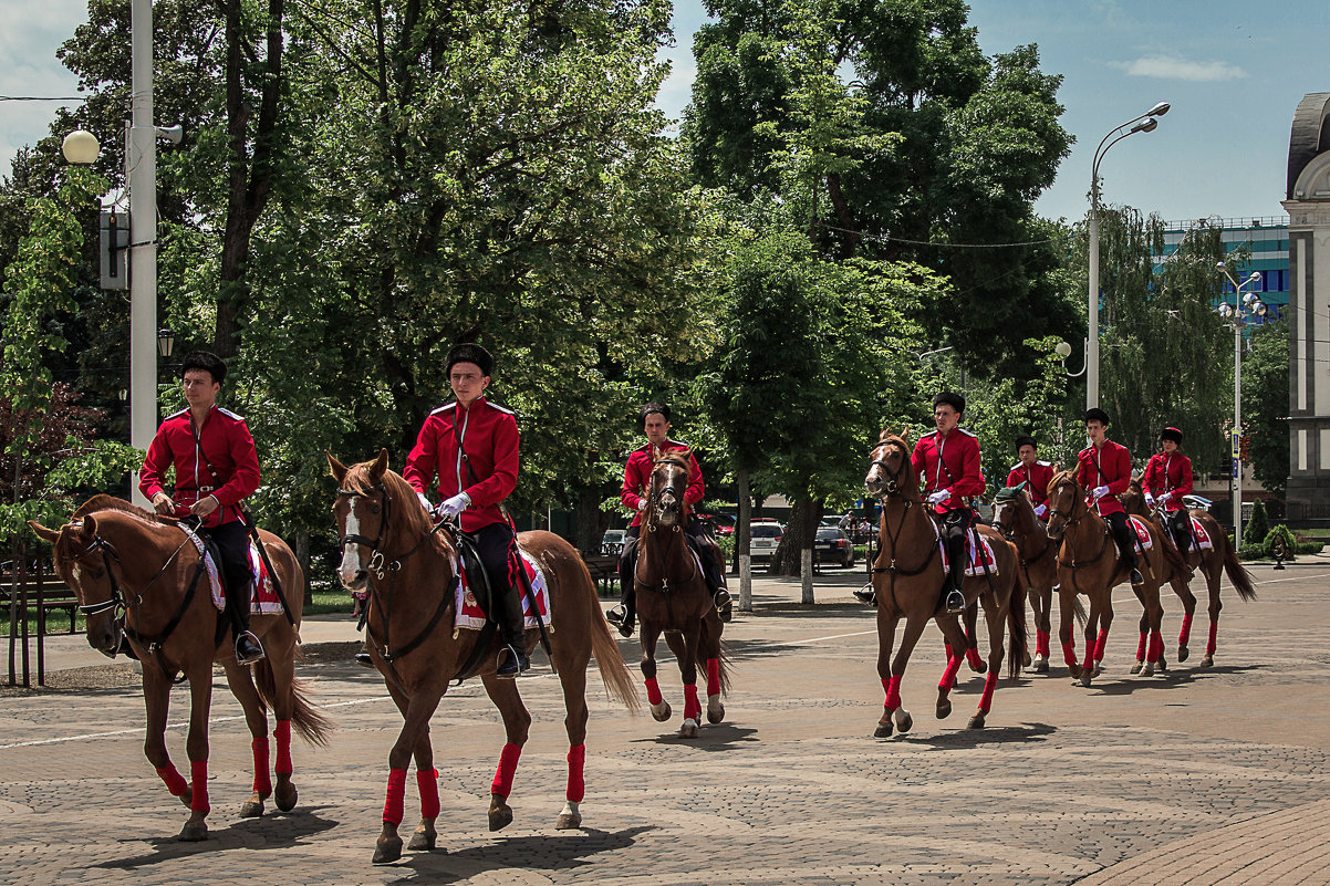
M 684 492 L 690 479 L 689 454 L 665 452 L 652 467 L 641 540 L 637 543 L 637 617 L 642 631 L 642 678 L 652 716 L 670 718 L 670 706 L 656 681 L 656 643 L 665 643 L 684 678 L 684 725 L 680 737 L 696 738 L 702 718 L 697 698 L 697 670 L 706 668 L 706 720 L 725 718 L 721 696 L 729 673 L 721 649 L 721 624 L 706 577 L 684 539 Z

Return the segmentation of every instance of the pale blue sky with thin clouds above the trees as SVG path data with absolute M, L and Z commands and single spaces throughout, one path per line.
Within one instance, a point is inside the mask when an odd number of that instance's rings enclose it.
M 701 0 L 677 0 L 676 45 L 662 53 L 673 71 L 658 97 L 676 118 L 705 19 Z M 76 94 L 55 53 L 84 20 L 86 0 L 0 0 L 0 96 Z M 1064 76 L 1061 124 L 1076 144 L 1036 204 L 1041 216 L 1081 218 L 1096 145 L 1158 101 L 1172 105 L 1158 129 L 1101 162 L 1105 202 L 1168 221 L 1283 216 L 1293 112 L 1303 94 L 1330 92 L 1330 3 L 975 0 L 970 20 L 984 52 L 1033 43 L 1044 72 Z M 45 136 L 55 106 L 0 101 L 0 174 L 20 145 Z

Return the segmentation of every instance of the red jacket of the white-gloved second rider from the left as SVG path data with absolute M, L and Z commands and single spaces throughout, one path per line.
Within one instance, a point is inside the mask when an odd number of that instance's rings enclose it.
M 454 400 L 430 412 L 402 476 L 423 495 L 438 471 L 440 499 L 469 495 L 462 529 L 475 532 L 508 521 L 499 504 L 517 487 L 517 419 L 509 410 L 483 396 L 469 410 Z

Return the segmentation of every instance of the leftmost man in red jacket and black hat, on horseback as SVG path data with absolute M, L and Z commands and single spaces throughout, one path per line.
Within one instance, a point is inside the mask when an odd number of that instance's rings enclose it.
M 235 661 L 254 664 L 263 647 L 250 633 L 249 527 L 241 507 L 258 488 L 258 455 L 245 419 L 217 406 L 226 363 L 194 351 L 181 361 L 184 408 L 168 416 L 153 436 L 138 475 L 138 491 L 158 514 L 194 516 L 200 532 L 217 545 L 226 585 L 226 611 L 235 637 Z M 176 491 L 168 495 L 166 470 L 176 466 Z

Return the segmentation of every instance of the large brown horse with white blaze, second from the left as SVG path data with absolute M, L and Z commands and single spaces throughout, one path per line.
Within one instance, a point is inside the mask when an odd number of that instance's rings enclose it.
M 346 467 L 327 456 L 338 482 L 332 512 L 343 549 L 338 573 L 350 591 L 368 589 L 367 644 L 383 674 L 388 694 L 402 712 L 402 732 L 388 752 L 388 790 L 383 830 L 374 862 L 402 857 L 402 823 L 407 764 L 415 757 L 420 792 L 420 825 L 411 837 L 412 850 L 435 847 L 439 782 L 430 744 L 430 718 L 451 680 L 479 676 L 503 716 L 508 744 L 489 789 L 489 830 L 512 822 L 508 796 L 527 742 L 531 714 L 515 680 L 495 676 L 499 639 L 489 631 L 454 629 L 454 581 L 458 543 L 435 527 L 420 507 L 415 490 L 388 470 L 388 451 L 375 462 Z M 587 565 L 577 551 L 551 532 L 523 532 L 517 544 L 539 564 L 549 591 L 549 661 L 564 692 L 564 728 L 568 730 L 567 804 L 556 827 L 581 825 L 579 804 L 585 793 L 587 666 L 596 656 L 601 680 L 613 698 L 638 708 L 632 676 L 609 636 Z M 527 648 L 540 641 L 539 628 L 527 631 Z M 483 645 L 481 645 L 483 644 Z

